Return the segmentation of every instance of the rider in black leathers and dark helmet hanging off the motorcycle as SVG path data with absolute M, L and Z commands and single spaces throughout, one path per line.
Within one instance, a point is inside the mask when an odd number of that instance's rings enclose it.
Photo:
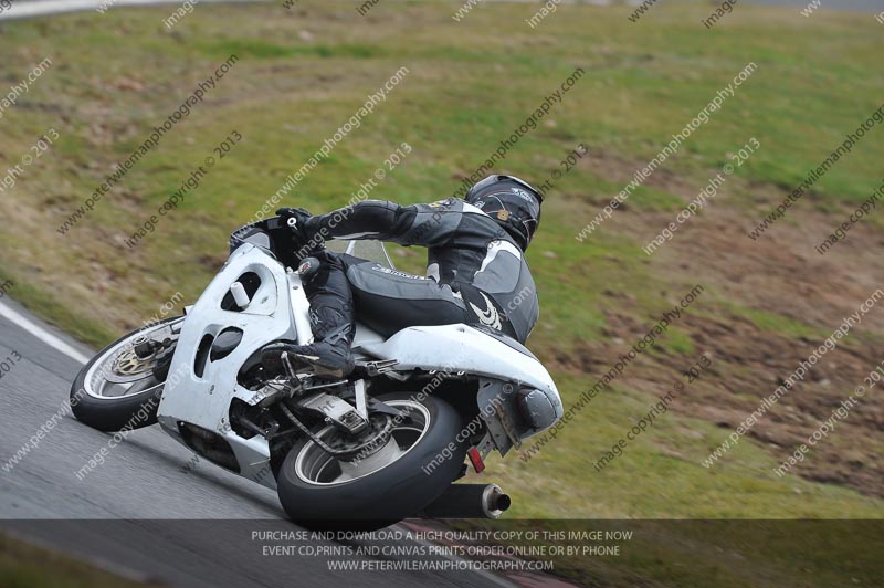
M 309 345 L 264 347 L 271 375 L 313 368 L 344 377 L 354 368 L 354 307 L 382 336 L 418 325 L 480 324 L 525 343 L 539 303 L 524 252 L 540 221 L 543 195 L 512 176 L 488 176 L 463 200 L 402 207 L 365 200 L 327 214 L 294 218 L 297 239 L 314 256 L 299 266 L 315 336 Z M 290 224 L 291 225 L 291 224 Z M 326 251 L 325 239 L 377 239 L 428 248 L 427 277 Z

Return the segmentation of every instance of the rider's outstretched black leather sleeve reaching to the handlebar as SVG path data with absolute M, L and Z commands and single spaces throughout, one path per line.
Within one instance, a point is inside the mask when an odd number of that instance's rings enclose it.
M 462 200 L 402 207 L 396 202 L 364 200 L 309 220 L 323 239 L 377 239 L 401 245 L 441 245 L 457 230 Z

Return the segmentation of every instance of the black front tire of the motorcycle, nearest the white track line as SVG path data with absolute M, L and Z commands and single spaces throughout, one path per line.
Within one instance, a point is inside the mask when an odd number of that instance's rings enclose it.
M 168 323 L 179 321 L 181 317 L 167 318 L 154 325 L 154 327 L 165 326 Z M 119 397 L 98 397 L 88 393 L 86 378 L 93 367 L 99 361 L 105 361 L 106 356 L 115 347 L 134 338 L 139 334 L 150 333 L 150 330 L 133 330 L 131 333 L 118 338 L 93 357 L 83 369 L 80 370 L 71 386 L 71 409 L 74 417 L 84 424 L 93 429 L 105 432 L 115 432 L 122 429 L 133 430 L 149 427 L 157 422 L 157 409 L 159 408 L 162 386 L 156 377 L 149 376 L 140 381 L 133 384 L 130 393 Z M 93 376 L 95 377 L 95 376 Z M 99 375 L 98 375 L 99 377 Z M 94 388 L 94 382 L 88 389 Z

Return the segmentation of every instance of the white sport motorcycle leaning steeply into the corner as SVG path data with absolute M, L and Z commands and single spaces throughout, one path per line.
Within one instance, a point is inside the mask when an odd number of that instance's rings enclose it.
M 481 473 L 554 426 L 561 399 L 540 361 L 483 325 L 413 326 L 381 337 L 358 322 L 356 368 L 264 375 L 261 349 L 312 340 L 309 304 L 278 217 L 231 235 L 231 252 L 185 315 L 129 333 L 77 375 L 73 412 L 101 431 L 159 423 L 230 472 L 277 492 L 311 528 L 379 528 L 402 518 L 491 517 L 511 505 Z M 393 264 L 377 241 L 336 249 Z

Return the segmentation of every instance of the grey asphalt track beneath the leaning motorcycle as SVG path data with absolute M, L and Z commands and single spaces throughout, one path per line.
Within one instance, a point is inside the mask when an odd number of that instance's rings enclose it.
M 14 324 L 10 308 L 71 349 L 61 353 L 41 340 L 38 329 Z M 476 570 L 335 571 L 328 569 L 328 557 L 267 556 L 262 552 L 266 542 L 254 540 L 253 532 L 297 529 L 284 519 L 275 493 L 204 461 L 182 471 L 192 453 L 156 426 L 131 432 L 103 465 L 77 479 L 88 458 L 112 439 L 63 410 L 82 366 L 71 357 L 77 354 L 87 356 L 90 350 L 9 298 L 0 301 L 0 371 L 6 369 L 3 361 L 9 366 L 14 360 L 0 377 L 0 531 L 12 529 L 128 576 L 169 586 L 515 586 Z M 63 416 L 53 421 L 54 414 Z M 41 426 L 46 426 L 43 438 L 12 464 L 9 460 Z M 339 548 L 341 544 L 311 545 Z

